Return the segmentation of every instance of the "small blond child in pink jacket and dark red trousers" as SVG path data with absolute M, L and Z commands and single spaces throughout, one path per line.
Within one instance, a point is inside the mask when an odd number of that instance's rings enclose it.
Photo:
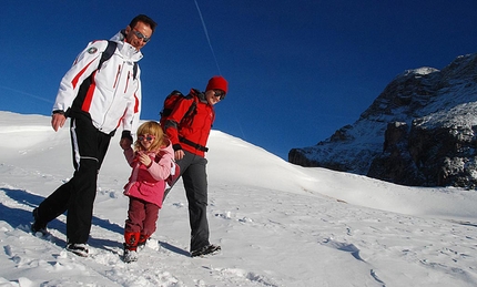
M 174 150 L 162 127 L 154 121 L 138 129 L 134 150 L 122 146 L 132 167 L 124 195 L 129 196 L 128 219 L 124 226 L 124 262 L 138 260 L 138 246 L 144 245 L 155 232 L 159 209 L 164 197 L 165 180 L 175 171 Z

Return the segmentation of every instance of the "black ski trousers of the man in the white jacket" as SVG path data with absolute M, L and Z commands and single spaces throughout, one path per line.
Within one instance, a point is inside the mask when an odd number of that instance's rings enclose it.
M 73 177 L 57 188 L 39 206 L 39 219 L 49 223 L 67 214 L 68 243 L 87 243 L 97 196 L 98 172 L 106 154 L 111 135 L 95 129 L 89 116 L 71 119 Z

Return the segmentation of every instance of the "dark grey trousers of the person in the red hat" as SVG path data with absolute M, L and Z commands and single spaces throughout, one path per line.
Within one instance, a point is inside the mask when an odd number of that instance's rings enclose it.
M 191 252 L 209 245 L 207 222 L 207 160 L 184 151 L 185 155 L 177 161 L 181 167 L 182 182 L 189 202 L 189 223 L 191 225 Z M 168 191 L 169 192 L 169 191 Z M 165 194 L 164 194 L 165 198 Z

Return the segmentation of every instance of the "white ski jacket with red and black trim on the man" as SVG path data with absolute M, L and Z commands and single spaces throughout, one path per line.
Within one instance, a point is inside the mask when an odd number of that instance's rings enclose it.
M 87 112 L 93 125 L 103 133 L 115 131 L 122 123 L 123 130 L 134 133 L 141 113 L 141 70 L 138 66 L 133 76 L 134 62 L 142 59 L 142 53 L 124 42 L 122 32 L 112 39 L 118 43 L 114 54 L 98 64 L 102 52 L 108 47 L 106 40 L 93 41 L 77 57 L 71 69 L 60 83 L 53 111 Z M 89 89 L 80 86 L 92 75 Z M 74 102 L 74 107 L 73 107 Z

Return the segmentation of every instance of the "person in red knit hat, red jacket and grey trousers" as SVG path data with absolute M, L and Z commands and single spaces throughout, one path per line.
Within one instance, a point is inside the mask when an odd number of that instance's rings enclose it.
M 209 80 L 205 92 L 191 89 L 182 98 L 164 122 L 164 131 L 174 147 L 174 156 L 181 167 L 189 202 L 191 225 L 191 256 L 213 254 L 221 249 L 209 242 L 207 174 L 205 146 L 215 120 L 214 104 L 225 99 L 229 83 L 223 76 Z M 164 195 L 165 198 L 165 195 Z

